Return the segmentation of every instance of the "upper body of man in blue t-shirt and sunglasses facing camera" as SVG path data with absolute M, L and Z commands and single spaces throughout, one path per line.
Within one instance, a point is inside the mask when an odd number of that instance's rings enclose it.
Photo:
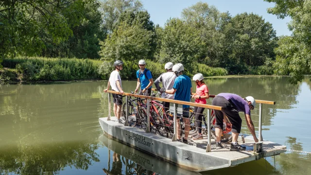
M 135 89 L 135 93 L 137 93 L 140 86 L 139 94 L 142 93 L 142 95 L 150 96 L 152 84 L 154 83 L 151 72 L 145 68 L 145 60 L 139 60 L 138 66 L 139 70 L 136 72 L 137 87 Z

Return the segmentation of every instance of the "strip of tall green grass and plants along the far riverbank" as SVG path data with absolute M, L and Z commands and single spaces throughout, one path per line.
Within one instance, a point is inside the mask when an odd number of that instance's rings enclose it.
M 107 80 L 113 70 L 113 62 L 110 61 L 76 58 L 16 57 L 4 59 L 2 65 L 4 68 L 8 68 L 0 72 L 0 81 L 2 82 Z M 151 70 L 154 79 L 165 71 L 164 64 L 146 60 L 146 65 L 146 68 Z M 194 64 L 194 66 L 204 76 L 228 74 L 227 70 L 223 68 L 211 68 L 204 64 Z M 125 61 L 121 78 L 135 80 L 137 70 L 137 60 Z M 185 70 L 185 74 L 189 76 L 193 76 L 195 73 L 197 72 Z

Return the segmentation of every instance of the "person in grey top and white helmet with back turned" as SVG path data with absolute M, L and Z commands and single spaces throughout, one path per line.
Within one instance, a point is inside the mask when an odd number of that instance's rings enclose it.
M 173 66 L 174 64 L 171 62 L 168 62 L 165 64 L 164 68 L 166 70 L 165 73 L 162 73 L 156 80 L 155 80 L 155 88 L 160 91 L 160 86 L 159 83 L 162 82 L 163 88 L 165 89 L 172 89 L 174 85 L 174 80 L 177 77 L 175 73 L 173 72 Z M 162 98 L 167 98 L 167 99 L 174 99 L 174 94 L 168 94 L 163 92 L 162 93 Z M 167 111 L 170 108 L 170 103 L 169 102 L 163 102 L 164 110 Z

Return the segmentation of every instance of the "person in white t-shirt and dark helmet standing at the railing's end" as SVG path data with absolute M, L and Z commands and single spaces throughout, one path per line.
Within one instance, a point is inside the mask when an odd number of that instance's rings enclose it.
M 117 92 L 121 92 L 121 95 L 119 94 L 112 94 L 113 98 L 113 112 L 115 116 L 118 118 L 119 123 L 121 123 L 121 107 L 122 107 L 122 83 L 121 83 L 121 76 L 120 76 L 120 70 L 123 69 L 123 62 L 121 60 L 117 60 L 114 62 L 113 66 L 116 68 L 116 70 L 113 70 L 110 74 L 109 81 L 107 88 L 104 89 L 104 92 L 106 92 L 109 87 L 111 86 L 111 89 Z

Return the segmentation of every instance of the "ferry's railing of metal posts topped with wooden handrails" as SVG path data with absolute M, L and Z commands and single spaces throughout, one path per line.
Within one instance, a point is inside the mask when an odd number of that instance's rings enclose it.
M 152 89 L 152 90 L 156 90 L 156 89 Z M 108 118 L 107 120 L 109 121 L 111 118 L 111 97 L 110 97 L 110 93 L 114 93 L 114 94 L 119 94 L 121 95 L 121 92 L 117 92 L 117 91 L 112 91 L 112 90 L 107 90 L 108 93 Z M 214 110 L 223 110 L 224 108 L 221 106 L 215 106 L 215 105 L 204 105 L 204 104 L 197 104 L 197 103 L 192 103 L 192 102 L 184 102 L 184 101 L 179 101 L 179 100 L 171 100 L 171 99 L 165 99 L 165 98 L 158 98 L 158 97 L 152 97 L 152 96 L 145 96 L 145 95 L 138 95 L 138 94 L 133 94 L 133 93 L 126 93 L 124 92 L 122 94 L 123 96 L 125 96 L 126 102 L 125 102 L 125 126 L 128 126 L 128 121 L 129 121 L 129 104 L 128 104 L 128 97 L 132 96 L 132 97 L 137 97 L 137 98 L 143 98 L 147 100 L 147 126 L 146 126 L 146 132 L 150 132 L 150 102 L 151 100 L 156 100 L 156 101 L 162 101 L 162 102 L 169 102 L 169 103 L 173 103 L 173 137 L 172 137 L 172 141 L 176 141 L 177 140 L 177 133 L 179 134 L 179 132 L 177 132 L 177 126 L 176 126 L 176 122 L 177 122 L 177 104 L 180 105 L 190 105 L 190 106 L 196 106 L 196 107 L 203 107 L 203 108 L 207 108 L 207 113 L 204 114 L 207 116 L 207 149 L 206 152 L 210 152 L 211 151 L 211 109 Z M 214 98 L 215 95 L 209 95 L 210 98 Z M 271 104 L 271 105 L 275 105 L 275 102 L 271 102 L 271 101 L 262 101 L 262 100 L 256 100 L 256 103 L 259 103 L 259 141 L 262 141 L 262 104 Z

